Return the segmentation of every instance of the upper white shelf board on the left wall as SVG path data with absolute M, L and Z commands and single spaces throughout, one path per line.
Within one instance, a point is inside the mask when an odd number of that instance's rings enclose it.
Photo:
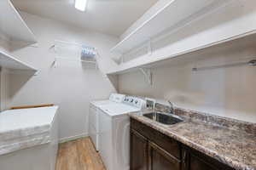
M 37 42 L 36 37 L 26 26 L 10 0 L 1 0 L 0 11 L 0 33 L 3 33 L 10 41 Z

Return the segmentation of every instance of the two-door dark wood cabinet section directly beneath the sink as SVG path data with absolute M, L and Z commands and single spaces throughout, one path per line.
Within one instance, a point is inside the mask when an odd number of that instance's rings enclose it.
M 181 170 L 181 145 L 131 119 L 131 170 Z

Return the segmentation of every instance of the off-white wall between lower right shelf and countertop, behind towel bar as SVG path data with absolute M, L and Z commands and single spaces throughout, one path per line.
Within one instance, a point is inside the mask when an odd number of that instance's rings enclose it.
M 139 71 L 119 76 L 119 93 L 170 99 L 182 108 L 256 122 L 256 67 L 191 71 L 195 66 L 256 59 L 255 36 L 207 48 L 153 69 L 149 86 Z M 131 86 L 132 82 L 132 86 Z

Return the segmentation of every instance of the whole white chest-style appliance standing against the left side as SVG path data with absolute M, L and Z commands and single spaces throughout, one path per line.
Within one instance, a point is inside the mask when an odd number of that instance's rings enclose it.
M 0 169 L 55 170 L 58 106 L 0 114 Z

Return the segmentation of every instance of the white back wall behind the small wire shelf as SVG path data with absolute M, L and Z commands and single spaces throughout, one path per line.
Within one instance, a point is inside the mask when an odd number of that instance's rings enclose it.
M 88 133 L 88 106 L 91 99 L 107 99 L 115 92 L 113 84 L 101 71 L 115 65 L 109 59 L 109 48 L 118 41 L 95 31 L 67 26 L 55 20 L 21 12 L 22 18 L 38 37 L 38 48 L 17 48 L 12 54 L 38 68 L 38 76 L 13 75 L 10 77 L 9 106 L 54 103 L 60 106 L 60 138 L 65 139 Z M 98 49 L 101 71 L 84 69 L 80 63 L 60 62 L 51 68 L 55 54 L 49 48 L 55 39 L 80 42 Z M 113 79 L 116 81 L 116 79 Z

